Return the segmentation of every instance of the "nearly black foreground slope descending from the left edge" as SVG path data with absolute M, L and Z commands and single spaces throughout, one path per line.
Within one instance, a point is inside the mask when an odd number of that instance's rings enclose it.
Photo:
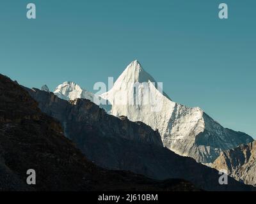
M 26 184 L 28 169 L 36 171 L 35 186 Z M 28 92 L 0 75 L 0 190 L 190 191 L 195 187 L 184 180 L 159 182 L 95 166 L 63 135 L 60 123 L 40 111 Z

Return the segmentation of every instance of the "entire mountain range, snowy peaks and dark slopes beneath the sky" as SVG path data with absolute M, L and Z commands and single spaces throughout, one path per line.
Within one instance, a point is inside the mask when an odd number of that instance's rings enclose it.
M 0 85 L 3 190 L 255 190 L 253 138 L 173 102 L 138 61 L 97 96 L 102 104 L 75 82 L 51 92 L 0 75 Z M 28 166 L 36 187 L 25 183 Z

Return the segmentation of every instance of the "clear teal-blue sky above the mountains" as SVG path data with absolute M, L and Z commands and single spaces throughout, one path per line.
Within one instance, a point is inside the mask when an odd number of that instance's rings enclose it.
M 74 81 L 92 91 L 138 59 L 173 101 L 256 136 L 255 9 L 255 0 L 1 0 L 0 73 L 27 87 Z

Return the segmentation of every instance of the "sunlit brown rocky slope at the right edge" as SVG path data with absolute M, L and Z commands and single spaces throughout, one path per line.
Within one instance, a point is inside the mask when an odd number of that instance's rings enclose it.
M 227 170 L 236 180 L 256 186 L 256 141 L 221 152 L 212 167 Z

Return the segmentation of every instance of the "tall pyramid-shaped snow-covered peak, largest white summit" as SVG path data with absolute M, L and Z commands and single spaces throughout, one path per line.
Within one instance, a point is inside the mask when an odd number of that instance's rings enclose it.
M 212 163 L 222 150 L 253 141 L 245 133 L 223 128 L 200 108 L 173 102 L 138 61 L 100 96 L 111 103 L 111 114 L 158 129 L 165 147 L 200 163 Z

